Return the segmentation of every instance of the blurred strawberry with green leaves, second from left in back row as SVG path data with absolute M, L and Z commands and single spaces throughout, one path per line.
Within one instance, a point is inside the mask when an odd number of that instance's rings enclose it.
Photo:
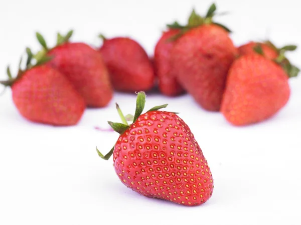
M 66 36 L 58 34 L 57 45 L 49 49 L 45 39 L 37 33 L 43 46 L 40 55 L 42 53 L 52 56 L 47 64 L 62 72 L 71 81 L 87 106 L 104 107 L 113 95 L 107 68 L 97 50 L 83 42 L 69 42 L 71 35 L 72 31 Z

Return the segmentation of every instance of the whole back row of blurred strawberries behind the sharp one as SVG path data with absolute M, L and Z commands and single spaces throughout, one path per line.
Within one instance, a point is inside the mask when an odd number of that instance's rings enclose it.
M 98 49 L 70 42 L 72 31 L 58 33 L 49 47 L 40 33 L 42 50 L 27 48 L 26 68 L 0 83 L 11 86 L 13 101 L 27 119 L 53 125 L 76 124 L 86 107 L 104 107 L 113 90 L 149 91 L 157 81 L 167 96 L 188 92 L 204 109 L 221 111 L 235 125 L 275 114 L 288 101 L 288 78 L 299 69 L 285 51 L 270 41 L 234 46 L 229 29 L 214 22 L 216 6 L 205 16 L 192 11 L 188 23 L 168 25 L 153 57 L 128 37 L 106 39 Z M 21 63 L 20 63 L 21 64 Z

